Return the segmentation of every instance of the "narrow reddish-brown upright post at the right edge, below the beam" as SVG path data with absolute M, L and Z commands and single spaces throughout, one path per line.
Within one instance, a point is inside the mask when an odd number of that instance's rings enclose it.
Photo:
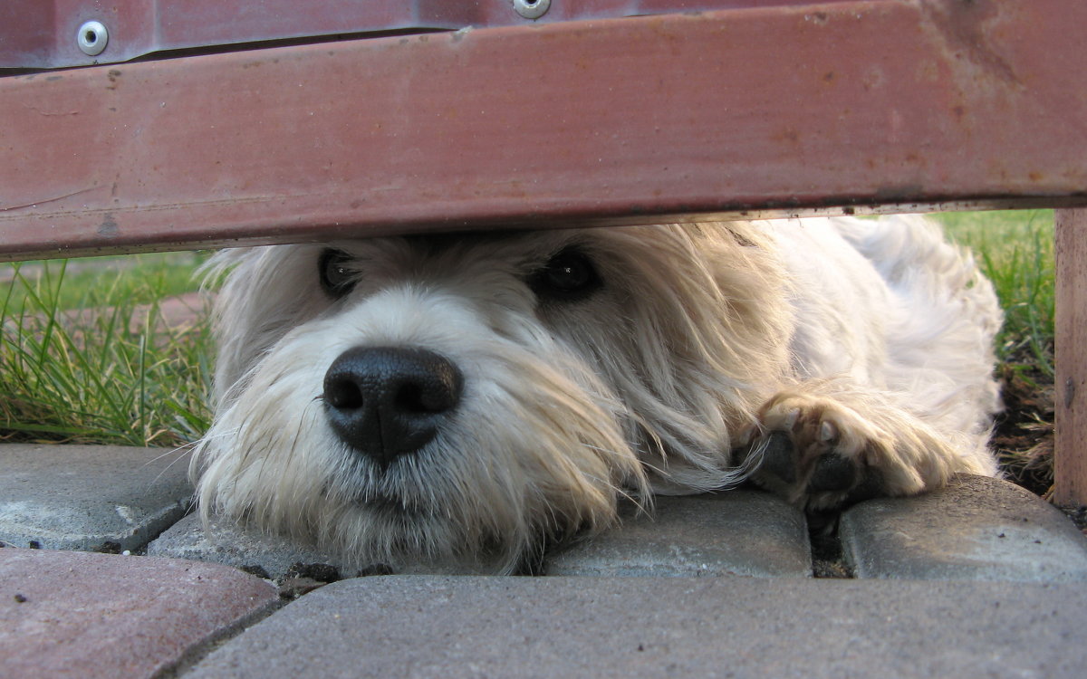
M 1058 210 L 1053 501 L 1087 504 L 1087 209 Z

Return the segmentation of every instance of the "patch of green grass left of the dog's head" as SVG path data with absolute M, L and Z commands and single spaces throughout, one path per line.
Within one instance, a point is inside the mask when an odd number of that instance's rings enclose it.
M 209 424 L 208 322 L 170 328 L 159 303 L 197 288 L 200 257 L 96 260 L 0 267 L 9 280 L 0 288 L 0 439 L 196 440 Z

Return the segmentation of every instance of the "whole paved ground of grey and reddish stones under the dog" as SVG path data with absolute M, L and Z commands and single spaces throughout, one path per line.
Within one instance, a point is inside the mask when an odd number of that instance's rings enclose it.
M 0 676 L 1079 677 L 1087 662 L 1087 538 L 996 479 L 861 503 L 814 553 L 772 495 L 661 498 L 547 575 L 503 578 L 205 533 L 186 467 L 0 447 Z

